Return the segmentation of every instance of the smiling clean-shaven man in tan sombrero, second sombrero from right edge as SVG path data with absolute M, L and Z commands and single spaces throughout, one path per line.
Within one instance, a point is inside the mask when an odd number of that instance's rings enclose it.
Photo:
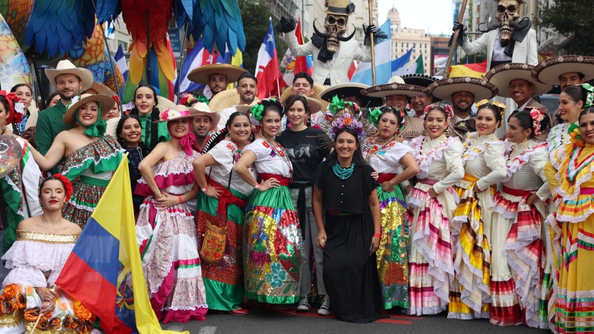
M 549 109 L 541 103 L 536 102 L 535 96 L 540 96 L 552 89 L 551 84 L 544 84 L 532 78 L 532 69 L 528 64 L 504 64 L 491 68 L 485 75 L 485 79 L 492 83 L 499 90 L 499 96 L 513 99 L 516 102 L 517 110 L 524 110 L 526 107 L 541 109 L 549 115 Z M 546 141 L 552 124 L 542 131 L 542 136 L 536 137 L 540 142 Z

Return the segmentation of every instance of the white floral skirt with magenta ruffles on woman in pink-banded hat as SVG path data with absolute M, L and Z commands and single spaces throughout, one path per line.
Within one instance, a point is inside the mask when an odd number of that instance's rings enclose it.
M 204 321 L 208 306 L 194 217 L 187 203 L 165 210 L 154 203 L 153 196 L 144 200 L 136 223 L 153 310 L 163 323 Z

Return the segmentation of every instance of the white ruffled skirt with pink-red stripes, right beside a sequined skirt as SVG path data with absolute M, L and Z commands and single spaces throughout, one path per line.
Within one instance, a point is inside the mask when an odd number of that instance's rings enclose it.
M 410 192 L 412 240 L 409 242 L 408 314 L 438 314 L 450 302 L 450 283 L 454 279 L 450 218 L 456 211 L 453 190 L 435 198 L 431 185 L 417 183 Z

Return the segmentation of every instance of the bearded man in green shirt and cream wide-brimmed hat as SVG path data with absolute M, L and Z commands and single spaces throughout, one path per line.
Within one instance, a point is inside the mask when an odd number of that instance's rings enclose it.
M 93 83 L 93 73 L 91 71 L 86 68 L 77 68 L 68 60 L 58 62 L 55 70 L 46 69 L 45 75 L 48 76 L 50 83 L 56 87 L 60 102 L 40 112 L 37 118 L 35 143 L 42 155 L 48 153 L 54 138 L 59 133 L 72 128 L 62 121 L 62 117 L 66 114 L 66 106 L 73 97 L 79 96 L 81 92 L 89 89 Z M 58 169 L 54 167 L 50 169 L 50 172 L 55 174 Z

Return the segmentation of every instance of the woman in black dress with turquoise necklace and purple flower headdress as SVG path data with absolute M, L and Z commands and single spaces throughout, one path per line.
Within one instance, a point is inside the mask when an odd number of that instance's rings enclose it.
M 382 301 L 375 260 L 381 237 L 378 184 L 361 153 L 361 122 L 351 114 L 337 116 L 330 132 L 334 151 L 315 173 L 313 197 L 324 284 L 337 319 L 374 322 Z

